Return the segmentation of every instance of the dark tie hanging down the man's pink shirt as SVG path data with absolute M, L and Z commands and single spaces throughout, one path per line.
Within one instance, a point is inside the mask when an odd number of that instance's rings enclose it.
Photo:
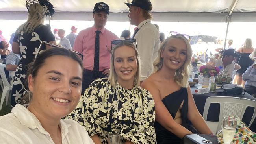
M 95 49 L 94 49 L 94 65 L 93 72 L 95 75 L 99 74 L 99 61 L 100 61 L 100 31 L 95 31 Z

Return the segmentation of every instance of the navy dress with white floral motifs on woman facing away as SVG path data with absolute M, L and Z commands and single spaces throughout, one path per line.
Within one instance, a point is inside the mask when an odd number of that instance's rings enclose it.
M 20 103 L 21 98 L 26 93 L 24 82 L 27 68 L 25 65 L 30 63 L 35 58 L 41 41 L 50 42 L 55 41 L 55 39 L 50 29 L 45 25 L 41 25 L 35 28 L 32 33 L 24 33 L 23 31 L 20 33 L 15 33 L 13 41 L 19 44 L 20 60 L 13 81 L 11 107 L 14 107 L 17 103 Z

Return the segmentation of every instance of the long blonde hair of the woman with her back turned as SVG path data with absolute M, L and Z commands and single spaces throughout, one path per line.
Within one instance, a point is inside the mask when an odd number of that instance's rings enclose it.
M 40 4 L 31 4 L 28 8 L 28 20 L 19 26 L 17 32 L 31 33 L 38 26 L 43 26 L 45 21 L 45 9 Z

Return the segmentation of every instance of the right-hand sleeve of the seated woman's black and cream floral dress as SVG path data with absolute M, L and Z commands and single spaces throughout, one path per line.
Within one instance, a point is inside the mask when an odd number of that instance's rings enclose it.
M 132 125 L 122 127 L 120 136 L 126 140 L 126 144 L 155 144 L 156 134 L 154 129 L 155 110 L 154 100 L 145 89 L 137 89 L 134 99 L 128 103 L 134 104 L 134 117 Z M 128 113 L 127 115 L 130 115 Z M 131 120 L 131 119 L 130 119 Z

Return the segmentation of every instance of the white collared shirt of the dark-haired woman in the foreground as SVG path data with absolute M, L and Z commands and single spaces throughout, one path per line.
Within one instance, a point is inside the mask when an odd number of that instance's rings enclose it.
M 74 120 L 60 120 L 62 144 L 94 144 L 84 127 Z M 33 113 L 20 104 L 0 117 L 1 144 L 54 144 Z

